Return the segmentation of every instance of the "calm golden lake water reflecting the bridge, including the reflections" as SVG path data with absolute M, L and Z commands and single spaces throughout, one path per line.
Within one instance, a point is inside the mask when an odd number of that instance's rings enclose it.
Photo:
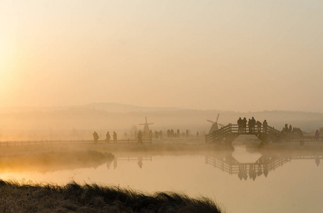
M 323 212 L 322 154 L 259 152 L 245 146 L 212 155 L 116 154 L 84 168 L 14 169 L 2 180 L 119 185 L 144 192 L 175 191 L 215 200 L 226 212 Z

